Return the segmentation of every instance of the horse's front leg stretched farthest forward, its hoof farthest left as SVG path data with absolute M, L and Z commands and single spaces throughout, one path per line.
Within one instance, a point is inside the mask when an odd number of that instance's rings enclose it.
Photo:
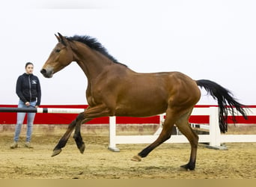
M 64 135 L 61 137 L 61 139 L 58 141 L 58 144 L 53 149 L 52 156 L 56 156 L 59 153 L 61 153 L 61 148 L 65 147 L 67 144 L 67 140 L 70 138 L 71 133 L 73 132 L 73 129 L 76 126 L 81 126 L 82 120 L 85 119 L 85 113 L 80 113 L 75 120 L 73 120 L 70 125 L 67 127 L 67 131 L 64 133 Z M 81 136 L 81 135 L 80 135 Z

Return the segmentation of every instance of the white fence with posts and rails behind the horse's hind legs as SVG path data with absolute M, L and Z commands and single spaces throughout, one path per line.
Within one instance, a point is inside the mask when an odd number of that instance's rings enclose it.
M 199 143 L 210 143 L 210 147 L 221 149 L 224 142 L 256 142 L 256 135 L 222 135 L 219 130 L 218 107 L 194 108 L 192 115 L 206 115 L 210 117 L 209 135 L 198 135 Z M 240 114 L 237 114 L 240 115 Z M 249 108 L 249 116 L 256 115 L 256 108 Z M 159 123 L 161 123 L 161 118 Z M 117 144 L 150 144 L 158 135 L 116 135 L 115 117 L 109 118 L 109 150 L 119 151 Z M 184 135 L 171 135 L 165 143 L 189 143 Z

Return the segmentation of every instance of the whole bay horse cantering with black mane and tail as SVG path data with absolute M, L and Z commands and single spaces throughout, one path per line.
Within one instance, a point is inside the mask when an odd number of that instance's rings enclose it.
M 183 170 L 195 170 L 198 149 L 198 135 L 189 124 L 192 109 L 201 97 L 198 86 L 204 88 L 219 105 L 219 128 L 228 130 L 228 111 L 240 112 L 246 116 L 245 108 L 234 99 L 230 91 L 210 80 L 193 80 L 180 72 L 136 73 L 109 55 L 106 48 L 94 37 L 64 37 L 55 34 L 58 43 L 52 50 L 40 73 L 51 78 L 72 61 L 76 61 L 88 79 L 86 98 L 88 108 L 79 114 L 58 141 L 52 156 L 61 153 L 75 129 L 73 138 L 80 153 L 84 153 L 85 143 L 80 133 L 81 124 L 96 117 L 127 116 L 148 117 L 166 113 L 162 132 L 152 144 L 132 158 L 141 161 L 153 149 L 171 137 L 174 124 L 191 145 L 189 162 L 180 166 Z M 235 117 L 233 118 L 235 122 Z

